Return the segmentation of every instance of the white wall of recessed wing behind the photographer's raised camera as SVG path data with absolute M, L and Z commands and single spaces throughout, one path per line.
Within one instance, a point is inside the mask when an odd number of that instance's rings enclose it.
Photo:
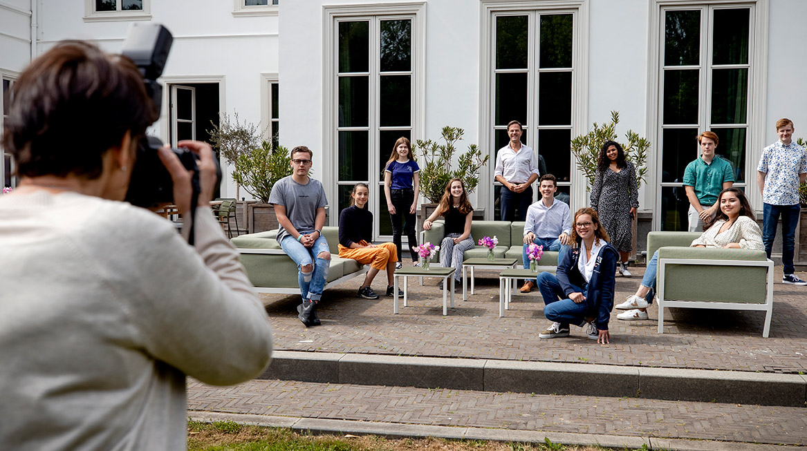
M 237 111 L 240 120 L 260 123 L 261 72 L 278 72 L 278 17 L 234 17 L 232 9 L 231 1 L 205 2 L 200 7 L 193 0 L 152 0 L 152 20 L 174 35 L 163 76 L 172 81 L 223 76 L 220 110 L 230 115 Z M 40 14 L 40 53 L 61 39 L 88 39 L 108 52 L 119 52 L 129 26 L 127 21 L 85 22 L 83 0 L 48 2 Z M 157 124 L 154 130 L 165 127 Z M 235 197 L 235 184 L 229 177 L 225 180 L 222 195 Z

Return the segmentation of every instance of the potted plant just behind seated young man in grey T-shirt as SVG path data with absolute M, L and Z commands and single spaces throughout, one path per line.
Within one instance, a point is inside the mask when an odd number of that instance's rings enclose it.
M 274 147 L 270 141 L 264 141 L 260 147 L 238 156 L 232 180 L 258 200 L 247 205 L 250 234 L 278 228 L 269 195 L 274 184 L 285 176 L 291 176 L 291 156 L 286 147 Z

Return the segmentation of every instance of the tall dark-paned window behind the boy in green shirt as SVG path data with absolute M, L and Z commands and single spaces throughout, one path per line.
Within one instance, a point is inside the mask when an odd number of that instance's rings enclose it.
M 663 9 L 659 106 L 662 230 L 687 230 L 684 168 L 700 155 L 696 136 L 717 134 L 717 158 L 731 163 L 734 184 L 749 173 L 748 110 L 753 6 Z

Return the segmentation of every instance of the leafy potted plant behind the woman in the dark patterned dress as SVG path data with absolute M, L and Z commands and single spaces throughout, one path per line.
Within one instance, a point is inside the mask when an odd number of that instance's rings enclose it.
M 591 189 L 597 173 L 597 162 L 600 159 L 600 148 L 606 141 L 617 141 L 625 151 L 625 159 L 636 168 L 637 187 L 642 186 L 647 173 L 647 149 L 650 148 L 650 141 L 642 138 L 633 130 L 625 132 L 627 144 L 620 142 L 617 136 L 617 124 L 619 124 L 619 112 L 611 112 L 611 122 L 601 126 L 594 122 L 592 130 L 587 134 L 581 134 L 571 140 L 571 155 L 575 155 L 577 168 L 583 172 L 583 176 L 588 181 L 587 189 Z M 638 217 L 638 216 L 637 216 Z M 633 235 L 633 251 L 631 258 L 636 258 L 637 250 L 637 217 L 633 217 L 631 230 Z

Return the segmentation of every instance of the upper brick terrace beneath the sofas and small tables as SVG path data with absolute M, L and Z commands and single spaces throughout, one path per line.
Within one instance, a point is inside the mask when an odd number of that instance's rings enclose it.
M 617 277 L 617 302 L 632 294 L 643 267 L 633 277 Z M 392 300 L 356 296 L 361 279 L 328 289 L 319 310 L 323 325 L 306 329 L 296 318 L 299 296 L 264 295 L 278 350 L 358 354 L 417 355 L 546 362 L 600 363 L 620 366 L 743 370 L 795 374 L 807 372 L 807 287 L 780 283 L 774 276 L 774 307 L 770 337 L 762 337 L 763 312 L 675 308 L 665 312 L 665 333 L 657 333 L 658 310 L 650 321 L 619 321 L 612 313 L 611 344 L 596 345 L 572 326 L 572 337 L 541 340 L 549 324 L 537 292 L 516 292 L 511 309 L 499 317 L 499 282 L 494 271 L 478 271 L 476 294 L 442 316 L 437 279 L 409 283 L 408 308 L 392 314 Z M 801 274 L 802 278 L 805 277 Z M 412 280 L 415 280 L 412 283 Z M 715 283 L 742 283 L 717 280 Z M 386 277 L 373 284 L 383 293 Z M 403 304 L 401 304 L 403 305 Z

